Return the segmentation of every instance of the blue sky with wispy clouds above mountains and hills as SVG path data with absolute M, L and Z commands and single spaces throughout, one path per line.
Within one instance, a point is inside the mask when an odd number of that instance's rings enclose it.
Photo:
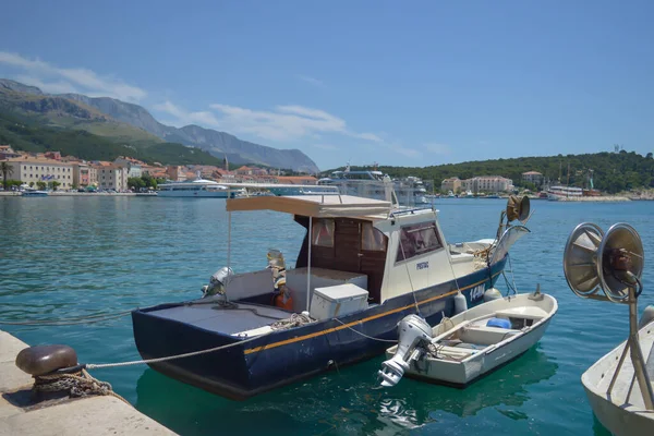
M 654 2 L 13 1 L 0 77 L 320 169 L 654 145 Z

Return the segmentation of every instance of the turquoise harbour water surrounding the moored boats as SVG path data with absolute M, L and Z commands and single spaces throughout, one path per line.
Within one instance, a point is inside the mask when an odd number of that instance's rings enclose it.
M 444 199 L 437 204 L 449 242 L 495 233 L 499 199 Z M 245 402 L 233 402 L 167 378 L 146 366 L 94 372 L 138 410 L 182 435 L 607 435 L 595 421 L 581 374 L 626 339 L 627 307 L 573 295 L 561 256 L 574 226 L 605 230 L 626 221 L 645 253 L 654 253 L 654 203 L 532 202 L 532 233 L 512 249 L 516 283 L 559 301 L 540 344 L 465 390 L 403 379 L 376 387 L 383 358 L 340 368 Z M 233 216 L 232 267 L 266 265 L 268 249 L 293 262 L 302 233 L 290 216 Z M 143 197 L 0 197 L 0 319 L 65 318 L 112 313 L 199 295 L 227 262 L 222 199 Z M 643 276 L 640 308 L 654 303 L 654 264 Z M 499 282 L 500 289 L 505 289 Z M 0 328 L 31 343 L 66 343 L 80 361 L 140 359 L 129 317 L 69 327 Z M 229 365 L 229 362 L 225 363 Z

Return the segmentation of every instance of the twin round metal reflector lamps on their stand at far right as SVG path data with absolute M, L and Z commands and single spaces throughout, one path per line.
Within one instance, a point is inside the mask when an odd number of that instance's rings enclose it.
M 611 226 L 606 234 L 594 223 L 584 222 L 570 233 L 564 252 L 568 286 L 584 299 L 629 305 L 629 339 L 608 386 L 610 396 L 625 356 L 630 353 L 635 378 L 647 410 L 654 410 L 654 393 L 638 339 L 638 296 L 644 266 L 643 243 L 633 227 Z M 598 294 L 602 289 L 604 295 Z

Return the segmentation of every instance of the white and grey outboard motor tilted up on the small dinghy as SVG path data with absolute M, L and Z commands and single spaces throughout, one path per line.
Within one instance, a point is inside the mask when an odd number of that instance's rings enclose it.
M 391 387 L 400 382 L 411 361 L 420 359 L 422 350 L 419 346 L 432 340 L 432 327 L 417 315 L 405 316 L 398 324 L 399 341 L 395 355 L 382 363 L 377 372 L 382 386 Z

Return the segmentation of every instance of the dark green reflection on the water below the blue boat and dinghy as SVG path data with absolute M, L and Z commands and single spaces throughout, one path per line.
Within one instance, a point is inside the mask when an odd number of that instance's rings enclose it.
M 532 349 L 467 389 L 402 380 L 392 389 L 376 386 L 382 359 L 330 373 L 303 384 L 244 402 L 222 399 L 178 383 L 153 370 L 138 379 L 136 407 L 182 434 L 221 428 L 258 433 L 270 417 L 266 434 L 281 434 L 301 425 L 310 434 L 404 433 L 434 421 L 433 412 L 473 416 L 492 407 L 512 420 L 526 417 L 517 409 L 530 400 L 528 387 L 555 375 L 558 365 Z M 171 401 L 174 398 L 174 401 Z

